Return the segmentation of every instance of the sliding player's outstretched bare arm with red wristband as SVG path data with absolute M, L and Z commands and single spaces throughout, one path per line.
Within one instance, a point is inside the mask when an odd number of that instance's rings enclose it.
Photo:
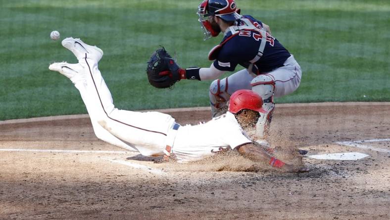
M 308 169 L 305 167 L 295 167 L 293 165 L 286 164 L 275 156 L 269 154 L 261 147 L 255 146 L 253 144 L 246 144 L 239 147 L 238 152 L 242 154 L 244 157 L 249 158 L 254 162 L 268 162 L 272 167 L 280 168 L 286 172 L 307 172 Z

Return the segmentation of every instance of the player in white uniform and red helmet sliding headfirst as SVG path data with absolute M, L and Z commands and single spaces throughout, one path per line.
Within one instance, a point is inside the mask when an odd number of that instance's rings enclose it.
M 116 109 L 98 69 L 103 52 L 80 39 L 66 38 L 62 45 L 79 63 L 53 63 L 49 69 L 68 77 L 80 91 L 98 138 L 144 156 L 165 155 L 178 162 L 199 160 L 230 148 L 284 171 L 306 171 L 278 160 L 247 137 L 245 132 L 254 129 L 260 113 L 265 112 L 256 93 L 237 91 L 226 114 L 204 124 L 181 126 L 168 114 Z

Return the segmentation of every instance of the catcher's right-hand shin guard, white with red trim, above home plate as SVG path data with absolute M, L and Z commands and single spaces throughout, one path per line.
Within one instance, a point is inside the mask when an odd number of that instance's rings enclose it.
M 271 76 L 261 74 L 256 76 L 251 82 L 252 90 L 263 98 L 263 109 L 267 113 L 260 113 L 259 120 L 256 124 L 256 136 L 266 139 L 269 135 L 269 128 L 274 112 L 274 90 L 275 82 Z

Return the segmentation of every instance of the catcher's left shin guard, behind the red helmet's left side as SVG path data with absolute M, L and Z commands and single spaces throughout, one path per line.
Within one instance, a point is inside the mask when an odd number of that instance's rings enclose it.
M 230 94 L 228 91 L 228 78 L 216 79 L 210 85 L 211 116 L 218 117 L 228 111 Z

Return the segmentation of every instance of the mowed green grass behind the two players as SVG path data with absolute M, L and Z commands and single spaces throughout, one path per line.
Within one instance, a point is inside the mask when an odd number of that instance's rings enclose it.
M 99 68 L 118 108 L 208 106 L 211 81 L 155 89 L 146 61 L 163 45 L 183 67 L 208 67 L 221 37 L 202 40 L 200 0 L 0 0 L 0 120 L 86 113 L 72 83 L 49 63 L 76 58 L 49 39 L 80 37 L 105 53 Z M 390 101 L 390 1 L 237 0 L 271 26 L 302 67 L 296 92 L 277 103 Z M 238 70 L 238 69 L 237 69 Z M 226 74 L 228 75 L 228 74 Z

